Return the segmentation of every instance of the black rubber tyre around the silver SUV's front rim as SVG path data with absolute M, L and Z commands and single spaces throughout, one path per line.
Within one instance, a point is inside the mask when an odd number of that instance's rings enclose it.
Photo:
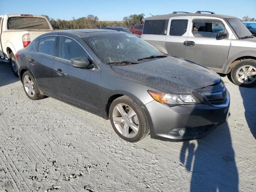
M 234 84 L 236 84 L 237 86 L 241 86 L 241 87 L 254 87 L 256 86 L 256 80 L 250 84 L 244 84 L 244 83 L 241 83 L 240 81 L 237 80 L 236 78 L 236 72 L 237 70 L 242 67 L 242 66 L 246 66 L 246 65 L 250 65 L 250 66 L 253 66 L 256 68 L 256 60 L 253 60 L 253 59 L 245 59 L 245 60 L 242 60 L 240 62 L 238 62 L 236 64 L 236 66 L 234 66 L 231 70 L 231 78 L 232 78 L 232 81 L 234 82 Z

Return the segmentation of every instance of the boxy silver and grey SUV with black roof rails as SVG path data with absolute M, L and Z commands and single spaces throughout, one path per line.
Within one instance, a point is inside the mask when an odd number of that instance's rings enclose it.
M 228 74 L 238 86 L 256 85 L 256 38 L 236 17 L 200 11 L 152 16 L 141 38 L 161 52 Z

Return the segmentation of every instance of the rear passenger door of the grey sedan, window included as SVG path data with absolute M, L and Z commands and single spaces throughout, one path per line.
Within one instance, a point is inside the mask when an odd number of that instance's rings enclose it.
M 42 92 L 56 97 L 56 86 L 53 74 L 54 58 L 56 56 L 56 42 L 58 36 L 40 38 L 27 56 L 28 68 L 34 74 Z

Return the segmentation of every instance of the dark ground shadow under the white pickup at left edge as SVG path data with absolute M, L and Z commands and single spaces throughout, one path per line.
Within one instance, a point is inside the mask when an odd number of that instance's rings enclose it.
M 8 60 L 0 59 L 0 87 L 14 82 L 20 79 L 12 73 L 10 62 Z

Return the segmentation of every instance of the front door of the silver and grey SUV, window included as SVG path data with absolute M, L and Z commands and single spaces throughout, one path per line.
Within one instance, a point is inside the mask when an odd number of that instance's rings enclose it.
M 227 38 L 217 39 L 218 32 Z M 192 16 L 186 43 L 186 59 L 209 68 L 222 68 L 228 58 L 232 31 L 220 18 Z

